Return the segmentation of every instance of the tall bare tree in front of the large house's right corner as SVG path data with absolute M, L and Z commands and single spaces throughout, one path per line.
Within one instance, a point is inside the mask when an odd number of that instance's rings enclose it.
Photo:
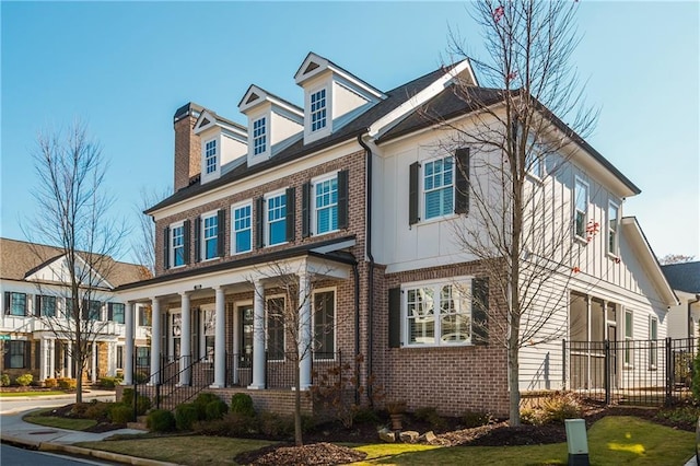
M 470 8 L 487 57 L 471 59 L 481 88 L 466 77 L 458 77 L 454 88 L 468 119 L 455 124 L 430 108 L 422 112 L 450 135 L 440 150 L 456 151 L 455 170 L 466 180 L 457 189 L 468 195 L 469 212 L 457 236 L 486 267 L 491 300 L 498 301 L 490 311 L 489 338 L 508 351 L 510 422 L 517 426 L 518 352 L 564 335 L 565 328 L 547 325 L 567 305 L 565 293 L 550 280 L 567 280 L 583 268 L 573 229 L 591 241 L 600 226 L 585 215 L 572 221 L 572 206 L 552 201 L 548 190 L 549 178 L 567 167 L 597 114 L 582 102 L 569 63 L 579 42 L 575 2 L 483 0 Z M 456 31 L 451 31 L 450 53 L 468 57 Z M 460 159 L 460 148 L 470 154 Z

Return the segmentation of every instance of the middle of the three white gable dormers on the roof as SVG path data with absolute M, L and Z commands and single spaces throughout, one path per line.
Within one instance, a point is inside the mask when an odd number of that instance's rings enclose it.
M 248 117 L 248 166 L 270 159 L 287 147 L 304 125 L 304 112 L 296 105 L 253 84 L 238 109 Z

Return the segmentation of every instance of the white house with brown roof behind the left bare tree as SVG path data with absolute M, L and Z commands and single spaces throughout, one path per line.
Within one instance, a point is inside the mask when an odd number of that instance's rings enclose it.
M 61 317 L 69 295 L 61 284 L 65 255 L 60 248 L 0 238 L 0 334 L 2 373 L 12 377 L 31 373 L 35 381 L 74 377 L 75 363 L 69 351 L 70 335 L 60 335 L 49 319 Z M 108 273 L 95 282 L 91 300 L 94 343 L 84 374 L 95 382 L 125 368 L 125 305 L 113 293 L 119 284 L 144 278 L 143 268 L 107 259 Z M 97 275 L 94 275 L 97 277 Z M 148 351 L 148 312 L 139 306 L 136 345 Z M 68 323 L 68 321 L 66 321 Z M 61 323 L 62 325 L 62 323 Z M 58 335 L 57 335 L 58 334 Z

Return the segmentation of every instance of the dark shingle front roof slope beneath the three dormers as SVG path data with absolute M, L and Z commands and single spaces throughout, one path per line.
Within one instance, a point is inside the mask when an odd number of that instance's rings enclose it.
M 155 206 L 151 207 L 145 211 L 145 213 L 150 213 L 158 209 L 172 206 L 173 203 L 177 203 L 180 200 L 187 199 L 191 196 L 206 193 L 208 190 L 214 189 L 219 186 L 226 185 L 236 179 L 241 179 L 252 174 L 262 172 L 272 166 L 300 159 L 304 155 L 307 155 L 320 149 L 335 145 L 337 143 L 347 141 L 349 139 L 353 139 L 358 137 L 358 135 L 365 132 L 368 127 L 372 125 L 374 121 L 387 115 L 389 112 L 396 109 L 398 106 L 404 104 L 406 101 L 408 101 L 410 97 L 416 95 L 418 92 L 422 91 L 428 85 L 433 83 L 444 72 L 445 72 L 445 69 L 440 68 L 428 74 L 417 78 L 413 81 L 410 81 L 396 89 L 393 89 L 392 91 L 386 92 L 385 100 L 378 102 L 376 105 L 363 112 L 353 120 L 349 121 L 346 126 L 340 128 L 338 131 L 335 131 L 334 133 L 325 138 L 320 138 L 317 141 L 314 141 L 305 145 L 304 145 L 303 139 L 300 139 L 299 141 L 291 144 L 289 148 L 284 149 L 282 152 L 276 154 L 273 158 L 265 162 L 260 162 L 250 167 L 248 167 L 247 163 L 244 163 L 241 166 L 232 170 L 231 172 L 222 175 L 219 179 L 206 183 L 203 185 L 199 183 L 192 184 L 186 188 L 178 190 L 177 193 L 162 200 Z M 188 110 L 188 107 L 187 108 L 185 107 L 187 106 L 182 107 L 183 110 L 178 109 L 178 112 L 175 113 L 176 118 L 178 115 L 182 115 L 183 112 Z

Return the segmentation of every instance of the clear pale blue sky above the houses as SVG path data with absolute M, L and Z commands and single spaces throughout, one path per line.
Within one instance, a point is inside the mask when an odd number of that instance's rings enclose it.
M 173 189 L 173 115 L 196 102 L 246 124 L 257 84 L 302 105 L 310 51 L 387 91 L 448 61 L 448 28 L 483 57 L 457 2 L 0 3 L 0 235 L 26 240 L 39 131 L 88 125 L 108 160 L 106 215 L 136 240 L 141 193 Z M 581 0 L 572 60 L 599 109 L 587 141 L 642 190 L 628 199 L 657 256 L 700 257 L 700 2 Z M 130 260 L 129 244 L 120 259 Z

